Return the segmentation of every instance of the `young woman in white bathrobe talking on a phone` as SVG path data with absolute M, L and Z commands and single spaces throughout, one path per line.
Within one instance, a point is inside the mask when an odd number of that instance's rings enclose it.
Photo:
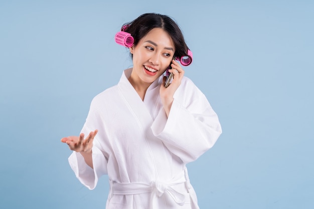
M 74 150 L 69 163 L 89 189 L 108 174 L 107 209 L 199 208 L 186 164 L 214 145 L 221 126 L 173 60 L 188 55 L 182 32 L 160 14 L 143 14 L 122 29 L 134 39 L 133 67 L 93 99 L 81 134 L 61 139 Z

